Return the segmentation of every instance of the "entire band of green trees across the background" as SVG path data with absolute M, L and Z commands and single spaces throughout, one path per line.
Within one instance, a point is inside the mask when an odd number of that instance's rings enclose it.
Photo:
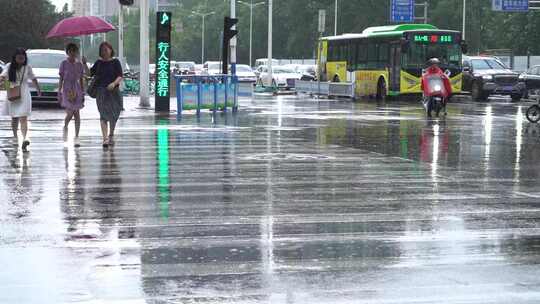
M 111 0 L 114 1 L 114 0 Z M 172 58 L 200 61 L 201 17 L 192 12 L 215 12 L 206 18 L 205 58 L 219 60 L 223 17 L 229 15 L 230 0 L 176 0 L 173 10 Z M 243 0 L 250 2 L 251 0 Z M 265 0 L 253 0 L 257 3 Z M 267 0 L 265 1 L 267 2 Z M 390 0 L 338 0 L 338 33 L 358 33 L 369 26 L 389 24 Z M 421 2 L 421 0 L 418 0 Z M 429 23 L 439 28 L 461 30 L 462 0 L 428 0 Z M 512 49 L 517 55 L 540 54 L 540 12 L 501 13 L 491 10 L 491 0 L 467 1 L 467 41 L 471 53 L 486 49 Z M 5 59 L 15 46 L 27 48 L 61 47 L 63 41 L 46 40 L 46 32 L 67 15 L 56 13 L 48 0 L 0 0 L 0 58 Z M 326 31 L 334 32 L 334 0 L 274 0 L 274 57 L 314 58 L 318 37 L 319 9 L 326 10 Z M 249 7 L 237 4 L 238 62 L 249 59 Z M 417 12 L 420 15 L 421 12 Z M 24 16 L 24 17 L 21 17 Z M 32 20 L 32 26 L 29 21 Z M 110 20 L 117 25 L 117 19 Z M 260 5 L 253 12 L 253 58 L 267 54 L 268 7 Z M 154 57 L 155 14 L 150 17 L 151 59 Z M 86 54 L 97 57 L 97 45 L 103 35 L 95 35 L 93 44 L 85 38 Z M 117 49 L 118 34 L 106 39 Z M 139 61 L 139 10 L 131 8 L 125 15 L 125 56 L 128 62 Z

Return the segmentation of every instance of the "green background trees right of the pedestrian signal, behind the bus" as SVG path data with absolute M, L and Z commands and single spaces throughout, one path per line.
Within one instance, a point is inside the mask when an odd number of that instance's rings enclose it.
M 249 2 L 250 0 L 244 0 Z M 253 0 L 255 3 L 261 0 Z M 267 1 L 266 1 L 267 2 Z M 338 0 L 338 33 L 359 33 L 366 27 L 389 24 L 390 0 Z M 421 1 L 418 1 L 421 2 Z M 439 28 L 461 30 L 462 0 L 428 0 L 428 21 Z M 229 1 L 182 0 L 174 11 L 173 58 L 200 61 L 201 18 L 192 11 L 216 14 L 206 22 L 206 58 L 218 60 L 223 17 Z M 314 58 L 319 9 L 326 10 L 326 31 L 334 32 L 334 0 L 274 0 L 274 57 Z M 540 54 L 540 12 L 501 13 L 491 9 L 491 0 L 468 1 L 467 40 L 471 53 L 505 48 L 515 54 Z M 419 8 L 421 10 L 421 8 Z M 422 12 L 417 12 L 420 15 Z M 238 61 L 249 59 L 249 7 L 237 5 Z M 268 8 L 254 9 L 253 57 L 266 57 Z

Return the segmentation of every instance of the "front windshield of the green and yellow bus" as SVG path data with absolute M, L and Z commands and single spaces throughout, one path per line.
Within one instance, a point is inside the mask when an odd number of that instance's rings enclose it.
M 438 58 L 445 68 L 461 69 L 461 47 L 458 44 L 411 43 L 403 55 L 404 68 L 425 68 L 431 58 Z

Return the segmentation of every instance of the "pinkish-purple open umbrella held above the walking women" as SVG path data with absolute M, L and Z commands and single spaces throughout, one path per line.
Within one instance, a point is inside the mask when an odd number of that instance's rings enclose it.
M 47 38 L 74 37 L 114 31 L 107 21 L 96 16 L 71 17 L 58 22 Z

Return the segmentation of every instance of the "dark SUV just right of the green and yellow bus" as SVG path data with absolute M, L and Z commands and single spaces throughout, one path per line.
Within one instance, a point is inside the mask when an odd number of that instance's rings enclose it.
M 471 92 L 473 100 L 483 101 L 489 95 L 509 95 L 519 101 L 525 94 L 525 84 L 519 74 L 494 57 L 463 57 L 463 90 Z

